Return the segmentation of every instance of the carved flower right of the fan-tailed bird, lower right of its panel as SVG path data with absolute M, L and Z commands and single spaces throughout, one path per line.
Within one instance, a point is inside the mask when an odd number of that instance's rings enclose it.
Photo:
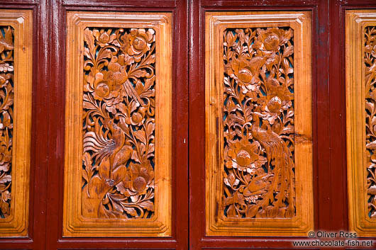
M 149 162 L 131 163 L 123 183 L 124 187 L 131 191 L 131 195 L 143 195 L 153 185 L 153 179 L 154 170 Z

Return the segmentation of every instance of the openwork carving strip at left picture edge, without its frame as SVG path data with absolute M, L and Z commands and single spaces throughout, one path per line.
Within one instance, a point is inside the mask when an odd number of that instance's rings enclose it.
M 13 29 L 0 26 L 0 217 L 11 212 L 13 139 Z

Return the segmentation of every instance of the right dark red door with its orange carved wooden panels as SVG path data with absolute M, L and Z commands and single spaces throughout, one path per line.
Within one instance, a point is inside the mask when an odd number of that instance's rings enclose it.
M 191 249 L 374 240 L 375 1 L 191 6 Z

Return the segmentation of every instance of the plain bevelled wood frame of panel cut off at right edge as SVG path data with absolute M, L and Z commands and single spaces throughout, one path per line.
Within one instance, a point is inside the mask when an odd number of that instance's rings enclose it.
M 345 14 L 346 135 L 349 229 L 361 237 L 376 234 L 376 219 L 367 216 L 365 130 L 365 28 L 376 26 L 376 10 Z

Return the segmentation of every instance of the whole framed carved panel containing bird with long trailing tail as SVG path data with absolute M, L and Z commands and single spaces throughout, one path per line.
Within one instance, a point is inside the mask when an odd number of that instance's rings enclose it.
M 206 234 L 313 228 L 311 13 L 206 13 Z

